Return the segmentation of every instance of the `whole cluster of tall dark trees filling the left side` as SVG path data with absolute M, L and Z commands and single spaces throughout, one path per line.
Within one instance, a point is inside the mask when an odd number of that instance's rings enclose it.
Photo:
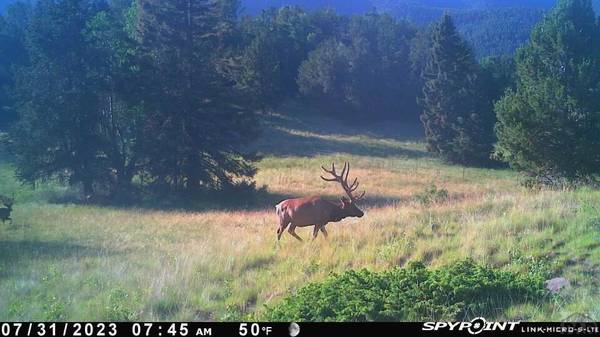
M 25 26 L 3 29 L 26 51 L 3 62 L 19 178 L 95 196 L 134 179 L 195 192 L 251 176 L 242 145 L 257 120 L 229 61 L 236 11 L 227 0 L 37 1 Z

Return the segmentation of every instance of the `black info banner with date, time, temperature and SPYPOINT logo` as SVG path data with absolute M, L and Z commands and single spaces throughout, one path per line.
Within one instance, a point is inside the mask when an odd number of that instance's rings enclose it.
M 312 323 L 312 322 L 4 322 L 2 337 L 326 337 L 326 336 L 600 335 L 598 322 Z

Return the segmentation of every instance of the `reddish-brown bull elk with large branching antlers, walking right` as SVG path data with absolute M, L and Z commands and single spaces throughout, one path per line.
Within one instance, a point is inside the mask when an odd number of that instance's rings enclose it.
M 331 175 L 323 177 L 325 181 L 338 182 L 348 195 L 348 198 L 342 197 L 339 202 L 325 200 L 321 197 L 304 197 L 297 199 L 287 199 L 275 206 L 277 217 L 279 218 L 279 228 L 277 229 L 277 240 L 281 239 L 283 231 L 288 227 L 288 233 L 302 241 L 302 238 L 296 234 L 296 227 L 315 226 L 313 229 L 313 240 L 317 238 L 319 231 L 327 238 L 325 225 L 330 222 L 338 222 L 347 217 L 360 218 L 364 215 L 357 206 L 356 202 L 364 197 L 365 192 L 358 197 L 353 192 L 358 188 L 358 178 L 348 185 L 348 174 L 350 173 L 350 164 L 345 163 L 341 174 L 335 171 L 335 164 L 331 164 L 331 170 L 321 166 L 321 168 Z

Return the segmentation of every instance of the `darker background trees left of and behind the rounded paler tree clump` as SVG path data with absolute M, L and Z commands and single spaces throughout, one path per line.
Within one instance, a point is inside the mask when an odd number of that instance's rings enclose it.
M 322 41 L 338 34 L 343 20 L 334 12 L 307 13 L 297 7 L 246 17 L 241 24 L 240 84 L 263 109 L 297 96 L 300 64 Z

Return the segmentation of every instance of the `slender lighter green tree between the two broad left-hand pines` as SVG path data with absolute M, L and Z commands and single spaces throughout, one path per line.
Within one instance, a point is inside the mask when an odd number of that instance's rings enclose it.
M 84 31 L 86 43 L 94 50 L 86 75 L 95 83 L 101 102 L 96 132 L 106 144 L 103 155 L 112 179 L 105 188 L 113 199 L 130 196 L 142 158 L 140 126 L 146 115 L 140 104 L 140 53 L 131 27 L 134 8 L 129 1 L 111 1 L 111 8 L 91 18 Z

